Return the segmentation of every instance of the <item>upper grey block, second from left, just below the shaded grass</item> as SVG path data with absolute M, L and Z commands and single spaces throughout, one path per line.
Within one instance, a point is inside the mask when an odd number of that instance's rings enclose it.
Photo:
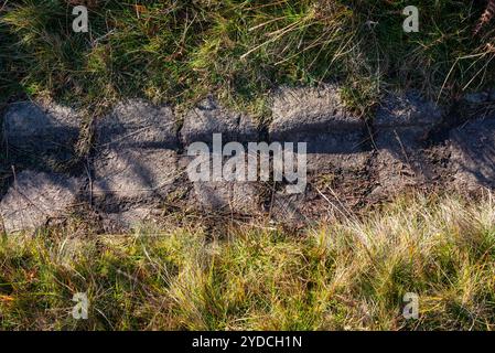
M 111 114 L 97 120 L 99 148 L 177 148 L 177 126 L 168 106 L 132 99 L 118 104 Z

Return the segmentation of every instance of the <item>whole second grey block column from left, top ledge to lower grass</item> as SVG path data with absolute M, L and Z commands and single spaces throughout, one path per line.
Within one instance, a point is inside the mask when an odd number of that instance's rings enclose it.
M 149 218 L 179 178 L 179 138 L 173 111 L 143 100 L 118 104 L 96 124 L 96 153 L 87 200 L 107 231 Z

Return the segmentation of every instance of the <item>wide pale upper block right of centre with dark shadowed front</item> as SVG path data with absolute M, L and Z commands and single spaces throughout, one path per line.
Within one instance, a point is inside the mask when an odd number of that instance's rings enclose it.
M 270 141 L 306 142 L 309 153 L 363 149 L 365 121 L 344 106 L 338 89 L 281 88 L 273 97 Z

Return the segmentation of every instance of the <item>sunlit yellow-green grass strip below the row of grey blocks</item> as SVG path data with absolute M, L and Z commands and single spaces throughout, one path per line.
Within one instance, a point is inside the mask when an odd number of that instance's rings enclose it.
M 288 234 L 201 225 L 0 243 L 0 329 L 493 330 L 495 203 L 415 196 Z M 71 315 L 86 292 L 88 320 Z M 419 319 L 402 315 L 418 293 Z

